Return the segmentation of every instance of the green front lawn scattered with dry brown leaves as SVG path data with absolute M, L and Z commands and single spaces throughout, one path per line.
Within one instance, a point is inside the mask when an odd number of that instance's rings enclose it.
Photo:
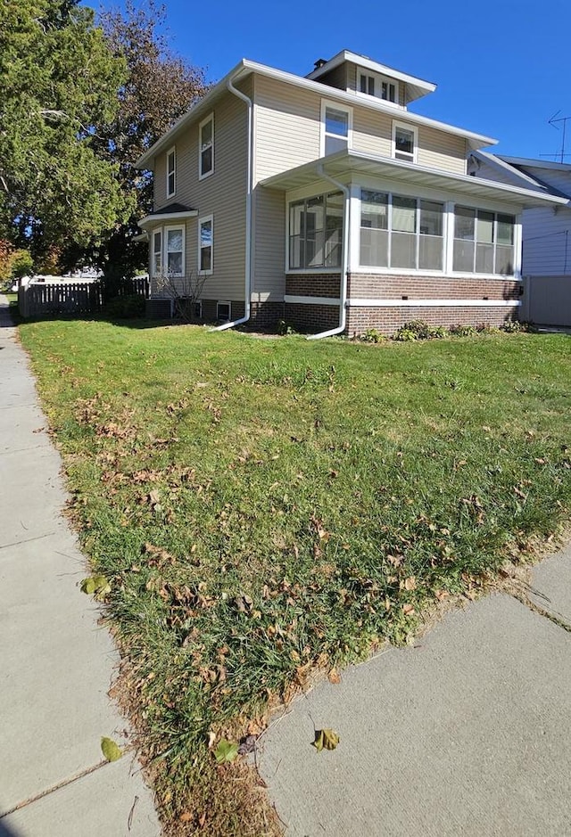
M 181 833 L 201 815 L 262 833 L 212 730 L 245 734 L 310 669 L 405 642 L 434 597 L 568 516 L 565 335 L 376 346 L 42 322 L 21 339 Z

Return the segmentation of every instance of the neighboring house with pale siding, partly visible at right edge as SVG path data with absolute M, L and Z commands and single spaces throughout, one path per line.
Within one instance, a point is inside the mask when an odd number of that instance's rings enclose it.
M 523 212 L 521 315 L 537 324 L 571 326 L 571 165 L 473 152 L 468 174 L 561 199 Z

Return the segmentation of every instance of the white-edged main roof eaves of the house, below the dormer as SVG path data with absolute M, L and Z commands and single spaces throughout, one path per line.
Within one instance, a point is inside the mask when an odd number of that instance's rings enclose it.
M 277 81 L 281 81 L 295 87 L 300 87 L 305 90 L 310 90 L 313 93 L 318 93 L 319 95 L 323 95 L 327 91 L 327 98 L 338 99 L 340 102 L 351 104 L 352 106 L 355 106 L 356 103 L 354 93 L 347 93 L 346 91 L 338 90 L 335 87 L 325 86 L 319 81 L 313 81 L 310 78 L 296 76 L 294 73 L 285 72 L 285 70 L 277 70 L 274 67 L 266 66 L 266 64 L 259 64 L 257 62 L 249 61 L 247 58 L 243 58 L 242 61 L 236 64 L 236 67 L 230 70 L 224 78 L 219 80 L 218 84 L 211 87 L 211 90 L 204 96 L 203 99 L 201 99 L 200 102 L 196 103 L 185 113 L 184 116 L 178 119 L 178 122 L 176 122 L 166 134 L 163 134 L 160 139 L 158 139 L 157 142 L 151 146 L 151 148 L 139 157 L 135 163 L 135 168 L 149 168 L 148 164 L 153 162 L 153 157 L 163 151 L 167 145 L 171 145 L 180 130 L 211 110 L 219 96 L 225 93 L 228 89 L 228 82 L 231 81 L 233 84 L 236 84 L 237 81 L 242 78 L 247 78 L 252 73 L 257 73 L 258 75 L 266 76 L 267 78 L 274 78 Z M 370 111 L 390 113 L 393 118 L 398 112 L 400 119 L 404 119 L 413 125 L 425 125 L 426 127 L 433 127 L 436 130 L 461 136 L 467 140 L 470 148 L 481 148 L 484 145 L 495 145 L 498 142 L 490 136 L 475 134 L 473 131 L 466 130 L 466 128 L 448 125 L 445 122 L 438 122 L 436 119 L 429 119 L 426 116 L 420 116 L 418 113 L 412 113 L 410 111 L 395 111 L 393 103 L 385 103 L 382 99 L 376 100 L 373 96 L 370 98 L 371 101 L 368 101 L 368 98 L 365 96 L 360 98 L 358 100 L 359 106 L 367 108 Z

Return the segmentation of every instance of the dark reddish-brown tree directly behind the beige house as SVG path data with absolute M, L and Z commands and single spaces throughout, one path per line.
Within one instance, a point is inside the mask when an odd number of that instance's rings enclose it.
M 204 70 L 172 52 L 165 18 L 165 7 L 154 0 L 145 8 L 128 0 L 124 14 L 103 12 L 100 18 L 106 42 L 127 63 L 128 76 L 114 118 L 96 127 L 95 147 L 103 160 L 117 165 L 121 189 L 134 208 L 94 253 L 108 273 L 125 275 L 146 264 L 147 247 L 132 236 L 153 207 L 153 183 L 134 163 L 208 90 Z

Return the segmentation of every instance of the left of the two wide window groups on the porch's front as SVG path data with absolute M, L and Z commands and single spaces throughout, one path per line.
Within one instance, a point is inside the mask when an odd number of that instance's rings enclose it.
M 443 204 L 361 189 L 360 265 L 443 269 Z

